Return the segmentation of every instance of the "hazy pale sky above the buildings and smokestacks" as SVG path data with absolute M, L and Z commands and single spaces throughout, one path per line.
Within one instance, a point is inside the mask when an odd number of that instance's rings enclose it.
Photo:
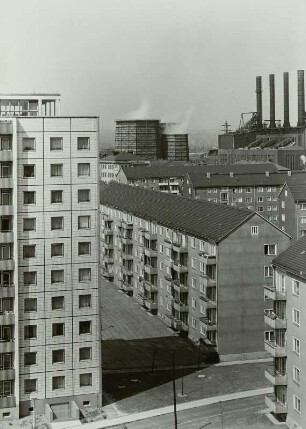
M 306 67 L 305 0 L 0 0 L 0 92 L 60 92 L 62 114 L 115 119 L 142 114 L 236 127 L 253 111 L 262 75 Z

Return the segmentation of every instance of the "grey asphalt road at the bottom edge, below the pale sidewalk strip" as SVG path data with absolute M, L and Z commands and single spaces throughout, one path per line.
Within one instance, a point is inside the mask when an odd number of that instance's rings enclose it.
M 264 396 L 206 405 L 178 413 L 178 429 L 272 429 L 272 422 L 260 413 L 265 409 Z M 117 429 L 174 429 L 174 415 L 167 414 L 147 420 L 113 426 Z M 283 429 L 286 426 L 278 426 Z

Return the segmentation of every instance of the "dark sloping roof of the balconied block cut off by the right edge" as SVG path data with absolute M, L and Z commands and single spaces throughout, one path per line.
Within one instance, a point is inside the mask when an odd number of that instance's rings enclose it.
M 306 279 L 306 236 L 278 255 L 273 264 Z

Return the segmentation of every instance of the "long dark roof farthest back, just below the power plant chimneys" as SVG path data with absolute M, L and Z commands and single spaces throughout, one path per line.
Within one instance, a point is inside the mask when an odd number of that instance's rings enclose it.
M 137 170 L 134 167 L 123 167 L 122 168 L 127 179 L 136 180 L 136 179 L 153 179 L 153 178 L 163 178 L 163 177 L 184 177 L 187 173 L 202 173 L 210 172 L 211 174 L 229 174 L 231 171 L 234 174 L 256 174 L 256 173 L 265 173 L 269 171 L 270 173 L 278 172 L 279 166 L 272 162 L 263 163 L 263 164 L 226 164 L 226 165 L 205 165 L 205 164 L 185 164 L 185 165 L 176 165 L 176 164 L 167 164 L 156 165 L 152 167 L 137 167 Z

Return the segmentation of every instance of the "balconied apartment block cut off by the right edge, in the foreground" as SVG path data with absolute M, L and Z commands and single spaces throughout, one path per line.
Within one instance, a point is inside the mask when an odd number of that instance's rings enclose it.
M 266 378 L 273 393 L 266 405 L 282 415 L 291 429 L 306 427 L 306 237 L 292 244 L 273 261 L 274 281 L 265 286 L 272 305 L 265 312 L 266 350 L 273 364 Z M 270 301 L 271 302 L 271 301 Z

